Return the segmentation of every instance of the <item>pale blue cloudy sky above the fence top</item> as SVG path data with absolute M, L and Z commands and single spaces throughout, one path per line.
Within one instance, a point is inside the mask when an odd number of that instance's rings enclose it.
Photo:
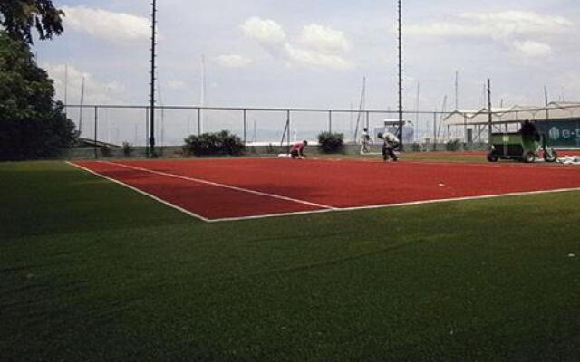
M 150 0 L 55 0 L 64 33 L 36 41 L 38 62 L 68 103 L 145 104 Z M 396 2 L 158 0 L 165 105 L 397 108 Z M 577 0 L 403 0 L 405 109 L 580 100 Z M 202 97 L 202 57 L 206 87 Z M 418 91 L 419 90 L 419 91 Z M 419 97 L 418 97 L 419 95 Z

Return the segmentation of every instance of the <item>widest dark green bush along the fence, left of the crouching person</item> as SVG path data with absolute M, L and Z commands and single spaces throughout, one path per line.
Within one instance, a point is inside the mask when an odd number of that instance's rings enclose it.
M 184 151 L 194 156 L 239 156 L 244 153 L 245 146 L 242 139 L 222 130 L 217 133 L 203 133 L 199 136 L 185 138 Z

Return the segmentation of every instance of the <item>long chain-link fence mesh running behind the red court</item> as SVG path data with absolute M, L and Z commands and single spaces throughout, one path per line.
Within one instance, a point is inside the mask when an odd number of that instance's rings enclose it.
M 84 139 L 121 146 L 147 146 L 150 137 L 150 109 L 146 106 L 67 106 L 72 119 Z M 494 132 L 517 131 L 524 111 L 492 112 Z M 552 111 L 555 114 L 555 111 Z M 567 113 L 573 114 L 574 111 Z M 567 114 L 565 113 L 565 114 Z M 548 125 L 549 111 L 536 111 L 534 119 L 552 136 L 570 138 L 568 144 L 580 146 L 578 119 L 565 120 L 568 129 L 554 129 Z M 487 110 L 477 114 L 467 112 L 405 111 L 403 141 L 413 149 L 445 148 L 451 141 L 469 145 L 488 142 Z M 541 119 L 542 115 L 546 115 Z M 156 145 L 182 146 L 189 135 L 229 130 L 247 145 L 286 145 L 288 142 L 308 140 L 313 144 L 323 131 L 343 133 L 346 143 L 356 143 L 362 129 L 368 127 L 376 136 L 389 130 L 398 132 L 399 114 L 389 110 L 299 110 L 299 109 L 232 109 L 198 107 L 156 107 Z M 474 121 L 477 120 L 477 121 Z M 566 126 L 567 127 L 567 126 Z M 572 139 L 574 138 L 574 139 Z

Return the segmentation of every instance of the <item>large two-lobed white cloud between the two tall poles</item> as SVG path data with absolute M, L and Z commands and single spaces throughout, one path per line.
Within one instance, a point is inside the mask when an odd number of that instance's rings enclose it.
M 304 26 L 296 41 L 299 45 L 289 41 L 282 26 L 269 19 L 252 17 L 242 25 L 242 31 L 288 65 L 303 64 L 338 71 L 354 66 L 343 57 L 343 52 L 350 47 L 343 32 L 329 27 L 318 24 Z

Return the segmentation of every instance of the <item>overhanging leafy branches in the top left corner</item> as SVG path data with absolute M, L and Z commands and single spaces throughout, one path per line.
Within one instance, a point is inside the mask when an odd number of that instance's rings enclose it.
M 41 40 L 63 33 L 63 16 L 63 11 L 55 8 L 51 0 L 0 1 L 0 25 L 11 38 L 26 43 L 33 43 L 33 27 Z

